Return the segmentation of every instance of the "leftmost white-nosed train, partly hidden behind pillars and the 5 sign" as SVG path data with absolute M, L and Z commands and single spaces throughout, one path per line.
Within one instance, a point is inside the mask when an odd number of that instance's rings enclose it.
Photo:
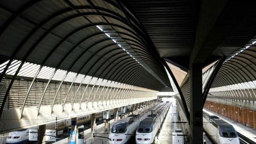
M 110 111 L 113 115 L 113 110 Z M 96 113 L 96 122 L 102 120 L 102 112 Z M 88 125 L 90 124 L 90 115 L 77 117 L 77 125 Z M 58 121 L 58 131 L 67 131 L 68 127 L 71 126 L 71 120 Z M 85 128 L 87 128 L 85 126 Z M 38 127 L 31 128 L 38 129 Z M 55 129 L 55 122 L 46 125 L 46 129 Z M 8 134 L 6 139 L 7 144 L 19 144 L 27 143 L 29 141 L 29 129 L 23 129 L 20 131 L 13 131 Z

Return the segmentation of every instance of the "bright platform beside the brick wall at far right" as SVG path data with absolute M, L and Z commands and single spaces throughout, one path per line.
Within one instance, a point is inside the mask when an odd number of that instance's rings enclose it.
M 209 109 L 203 109 L 204 112 L 210 114 L 210 115 L 216 115 L 219 118 L 221 118 L 222 120 L 224 120 L 225 122 L 230 123 L 230 125 L 232 125 L 236 131 L 240 134 L 242 134 L 243 136 L 249 138 L 251 141 L 256 143 L 256 130 L 250 128 L 250 127 L 246 127 L 245 125 L 238 123 L 234 120 L 231 120 L 229 118 L 224 117 L 223 115 L 220 115 L 218 113 L 215 113 L 213 111 L 210 111 Z

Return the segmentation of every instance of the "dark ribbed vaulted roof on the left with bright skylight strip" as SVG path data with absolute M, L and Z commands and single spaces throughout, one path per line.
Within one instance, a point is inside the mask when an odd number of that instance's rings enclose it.
M 3 0 L 0 13 L 2 61 L 16 59 L 154 90 L 171 87 L 147 33 L 118 1 Z

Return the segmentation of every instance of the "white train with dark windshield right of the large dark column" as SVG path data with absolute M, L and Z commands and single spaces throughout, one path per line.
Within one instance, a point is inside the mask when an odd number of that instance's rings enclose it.
M 221 120 L 215 115 L 203 113 L 203 129 L 210 138 L 219 144 L 240 144 L 237 131 L 232 125 Z

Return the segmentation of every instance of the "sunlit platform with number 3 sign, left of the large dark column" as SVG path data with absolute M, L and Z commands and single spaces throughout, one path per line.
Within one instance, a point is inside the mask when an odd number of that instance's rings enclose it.
M 172 105 L 170 106 L 163 125 L 158 133 L 159 143 L 161 144 L 172 144 L 173 132 L 175 132 L 175 129 L 182 129 L 182 124 L 172 123 L 179 121 L 176 99 L 168 98 L 168 100 L 172 102 Z

